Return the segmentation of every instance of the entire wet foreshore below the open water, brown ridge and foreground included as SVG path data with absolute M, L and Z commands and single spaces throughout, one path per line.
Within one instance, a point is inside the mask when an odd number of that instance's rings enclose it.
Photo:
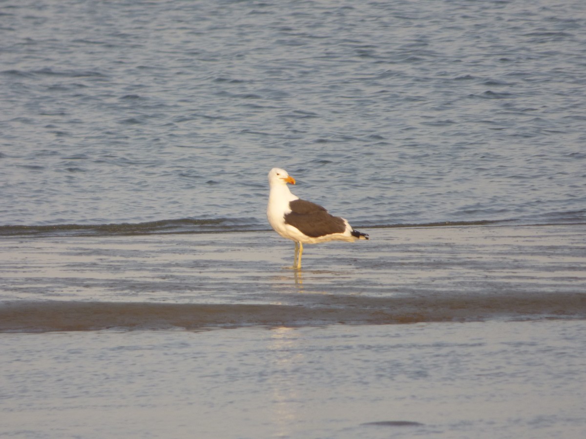
M 586 226 L 366 231 L 2 239 L 0 435 L 586 434 Z

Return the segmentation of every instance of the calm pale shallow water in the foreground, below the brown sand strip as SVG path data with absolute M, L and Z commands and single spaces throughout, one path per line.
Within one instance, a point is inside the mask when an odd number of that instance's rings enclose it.
M 580 438 L 585 331 L 558 320 L 5 334 L 0 434 Z

